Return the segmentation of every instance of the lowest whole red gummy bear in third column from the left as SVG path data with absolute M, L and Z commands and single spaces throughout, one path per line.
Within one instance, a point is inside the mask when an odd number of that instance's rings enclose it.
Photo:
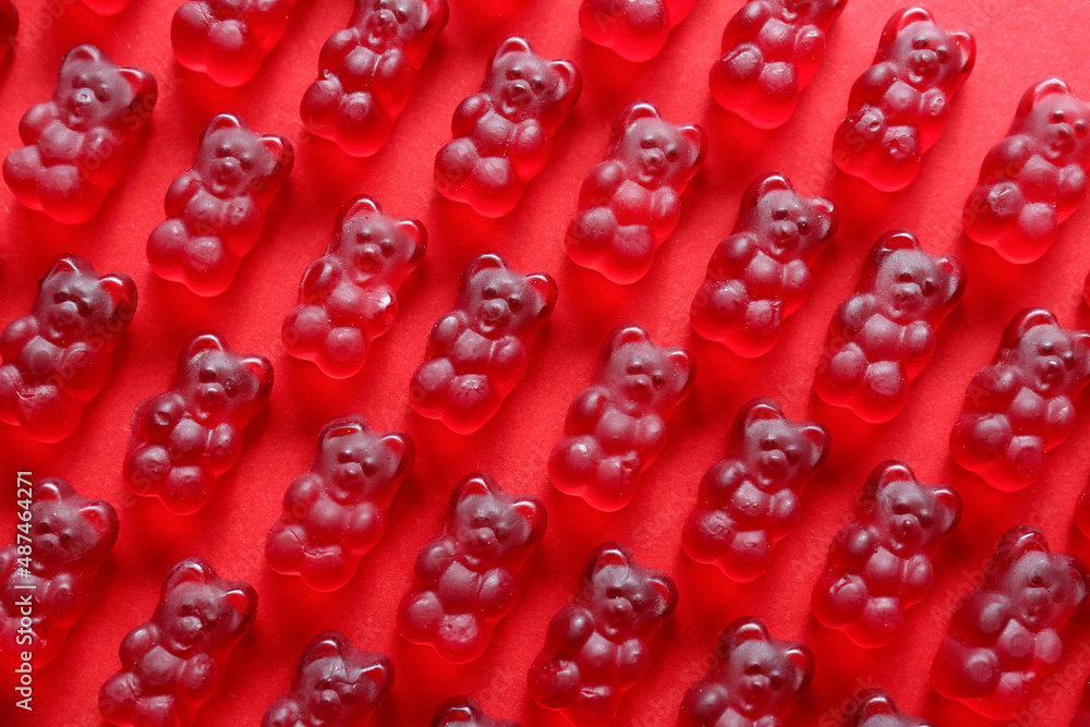
M 378 434 L 358 414 L 326 424 L 311 469 L 289 485 L 265 541 L 272 570 L 298 573 L 315 591 L 343 587 L 383 537 L 415 451 L 408 434 Z

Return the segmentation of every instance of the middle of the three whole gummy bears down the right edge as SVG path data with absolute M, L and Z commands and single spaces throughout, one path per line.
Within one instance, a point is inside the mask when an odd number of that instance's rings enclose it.
M 950 432 L 954 461 L 996 489 L 1026 487 L 1075 428 L 1073 401 L 1088 381 L 1090 332 L 1067 330 L 1044 308 L 1021 311 L 995 362 L 969 383 Z

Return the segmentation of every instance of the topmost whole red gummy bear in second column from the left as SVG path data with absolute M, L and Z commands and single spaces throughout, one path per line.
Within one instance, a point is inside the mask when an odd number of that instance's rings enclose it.
M 167 221 L 147 239 L 152 270 L 197 295 L 227 290 L 293 160 L 279 134 L 258 135 L 234 113 L 209 119 L 193 168 L 167 190 Z

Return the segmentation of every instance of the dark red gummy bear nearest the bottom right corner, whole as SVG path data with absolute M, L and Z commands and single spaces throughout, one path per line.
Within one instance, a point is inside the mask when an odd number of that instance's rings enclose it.
M 931 683 L 990 719 L 1010 719 L 1056 668 L 1064 650 L 1057 629 L 1086 601 L 1090 574 L 1029 525 L 1003 534 L 983 572 L 954 610 Z

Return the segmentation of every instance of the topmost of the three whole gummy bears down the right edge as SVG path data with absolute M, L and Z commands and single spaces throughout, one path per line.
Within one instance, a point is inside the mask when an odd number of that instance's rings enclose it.
M 1059 78 L 1032 86 L 1006 137 L 980 166 L 965 232 L 1012 263 L 1032 263 L 1082 204 L 1090 171 L 1090 105 Z

